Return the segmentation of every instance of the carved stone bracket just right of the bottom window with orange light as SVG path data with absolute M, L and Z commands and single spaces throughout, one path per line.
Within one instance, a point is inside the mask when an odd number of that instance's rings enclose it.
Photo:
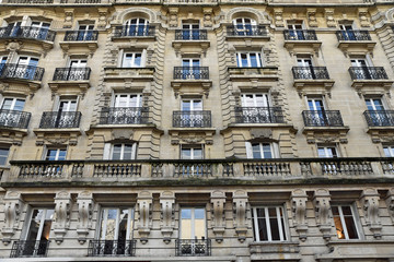
M 379 200 L 380 195 L 375 189 L 364 189 L 360 198 L 364 211 L 367 226 L 373 233 L 373 237 L 376 239 L 382 238 L 382 223 L 379 215 Z

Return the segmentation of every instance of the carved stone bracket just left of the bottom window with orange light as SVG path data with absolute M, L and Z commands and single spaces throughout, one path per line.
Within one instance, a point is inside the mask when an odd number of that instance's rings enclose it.
M 313 206 L 316 217 L 316 224 L 323 238 L 329 240 L 332 237 L 332 218 L 331 218 L 331 194 L 326 189 L 317 189 L 313 195 Z

